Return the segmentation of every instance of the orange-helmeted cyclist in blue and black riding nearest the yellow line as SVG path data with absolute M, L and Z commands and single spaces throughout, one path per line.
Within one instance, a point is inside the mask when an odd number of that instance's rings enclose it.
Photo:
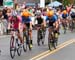
M 46 17 L 46 23 L 48 21 L 48 27 L 49 27 L 49 32 L 52 31 L 52 29 L 54 29 L 55 33 L 59 33 L 58 32 L 58 28 L 59 28 L 59 24 L 58 24 L 58 17 L 56 16 L 56 14 L 54 14 L 53 10 L 50 10 L 47 12 L 47 17 Z

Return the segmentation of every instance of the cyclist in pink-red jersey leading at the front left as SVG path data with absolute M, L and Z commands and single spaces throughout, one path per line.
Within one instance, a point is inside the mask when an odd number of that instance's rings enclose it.
M 9 23 L 10 23 L 10 29 L 11 29 L 11 35 L 13 35 L 13 31 L 16 32 L 16 35 L 18 36 L 21 45 L 23 45 L 23 39 L 20 35 L 19 30 L 19 23 L 21 22 L 21 19 L 17 15 L 13 15 L 9 17 Z

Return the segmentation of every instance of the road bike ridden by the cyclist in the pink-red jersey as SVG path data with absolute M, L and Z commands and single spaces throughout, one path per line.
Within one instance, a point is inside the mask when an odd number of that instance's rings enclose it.
M 11 35 L 11 40 L 10 40 L 10 56 L 13 59 L 15 57 L 15 53 L 17 51 L 18 56 L 21 55 L 22 52 L 22 46 L 21 42 L 17 36 L 17 31 L 13 30 L 13 35 Z

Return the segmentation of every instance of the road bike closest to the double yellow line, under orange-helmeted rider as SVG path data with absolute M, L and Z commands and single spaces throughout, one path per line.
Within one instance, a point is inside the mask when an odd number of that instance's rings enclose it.
M 51 32 L 48 34 L 48 47 L 49 50 L 52 50 L 52 47 L 56 49 L 56 46 L 58 45 L 58 33 L 56 33 L 53 29 L 53 27 L 50 27 Z

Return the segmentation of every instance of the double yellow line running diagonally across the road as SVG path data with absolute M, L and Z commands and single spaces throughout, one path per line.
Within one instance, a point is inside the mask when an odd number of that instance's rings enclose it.
M 53 54 L 53 53 L 59 51 L 60 49 L 66 47 L 66 46 L 69 45 L 69 44 L 72 44 L 73 42 L 75 42 L 74 39 L 71 39 L 71 40 L 69 40 L 69 41 L 66 41 L 66 42 L 60 44 L 59 46 L 57 46 L 57 49 L 55 49 L 55 50 L 53 50 L 53 51 L 51 51 L 51 52 L 50 52 L 50 50 L 45 51 L 45 52 L 43 52 L 43 53 L 41 53 L 41 54 L 39 54 L 39 55 L 37 55 L 37 56 L 31 58 L 30 60 L 41 60 L 42 58 L 45 58 L 46 56 L 48 56 L 48 55 L 50 55 L 50 54 Z

